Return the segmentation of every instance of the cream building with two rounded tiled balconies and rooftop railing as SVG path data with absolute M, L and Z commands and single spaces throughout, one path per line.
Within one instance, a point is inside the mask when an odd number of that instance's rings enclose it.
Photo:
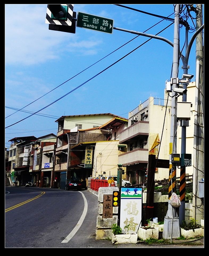
M 119 155 L 119 163 L 126 167 L 126 179 L 132 184 L 145 183 L 149 154 L 168 160 L 169 142 L 170 101 L 166 104 L 164 99 L 150 97 L 129 112 L 128 127 L 119 134 L 119 144 L 126 145 Z M 156 168 L 155 179 L 168 177 L 169 169 Z

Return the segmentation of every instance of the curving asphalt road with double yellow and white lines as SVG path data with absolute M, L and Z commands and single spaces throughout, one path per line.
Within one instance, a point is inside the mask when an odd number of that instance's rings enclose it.
M 114 245 L 95 240 L 98 200 L 87 190 L 6 187 L 5 249 L 203 248 L 195 245 Z

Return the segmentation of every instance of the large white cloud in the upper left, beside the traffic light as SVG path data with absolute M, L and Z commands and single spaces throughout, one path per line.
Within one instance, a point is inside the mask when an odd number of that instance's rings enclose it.
M 56 48 L 66 34 L 48 30 L 46 8 L 44 4 L 5 5 L 6 64 L 33 65 L 57 58 Z

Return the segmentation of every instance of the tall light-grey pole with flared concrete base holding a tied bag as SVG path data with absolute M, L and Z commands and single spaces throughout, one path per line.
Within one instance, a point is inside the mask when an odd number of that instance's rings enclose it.
M 170 147 L 172 147 L 172 153 L 176 154 L 177 143 L 177 119 L 176 119 L 176 105 L 177 100 L 174 88 L 177 87 L 178 67 L 179 67 L 179 7 L 175 5 L 175 21 L 174 21 L 174 41 L 173 41 L 173 72 L 172 72 L 172 101 L 171 101 L 171 131 L 170 131 Z M 171 152 L 170 152 L 171 153 Z M 170 177 L 171 179 L 171 191 L 175 188 L 175 175 L 176 166 L 172 165 L 172 155 L 170 154 Z M 170 204 L 170 197 L 168 200 L 168 211 L 164 218 L 164 227 L 162 237 L 164 239 L 172 239 L 180 237 L 179 218 L 174 207 Z

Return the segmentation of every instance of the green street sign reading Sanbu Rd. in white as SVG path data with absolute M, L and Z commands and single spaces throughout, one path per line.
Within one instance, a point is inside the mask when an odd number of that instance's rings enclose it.
M 112 34 L 113 20 L 78 12 L 77 27 Z

